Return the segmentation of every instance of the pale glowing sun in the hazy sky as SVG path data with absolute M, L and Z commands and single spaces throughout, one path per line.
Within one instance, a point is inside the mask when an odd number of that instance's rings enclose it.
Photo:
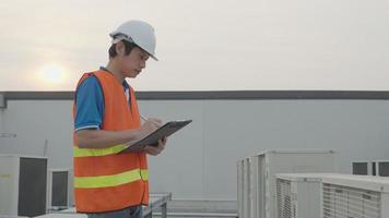
M 60 84 L 66 80 L 66 70 L 59 64 L 49 63 L 44 65 L 39 71 L 40 77 L 48 84 Z

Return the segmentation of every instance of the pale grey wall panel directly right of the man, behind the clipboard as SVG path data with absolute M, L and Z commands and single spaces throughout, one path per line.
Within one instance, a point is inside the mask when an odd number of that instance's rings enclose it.
M 143 117 L 160 118 L 163 121 L 193 120 L 168 138 L 162 155 L 149 158 L 151 191 L 173 192 L 174 198 L 207 197 L 203 174 L 203 102 L 140 101 L 139 110 Z M 236 180 L 235 177 L 233 179 Z

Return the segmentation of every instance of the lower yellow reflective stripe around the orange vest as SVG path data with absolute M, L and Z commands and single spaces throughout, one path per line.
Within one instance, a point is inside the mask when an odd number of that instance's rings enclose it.
M 74 177 L 74 187 L 95 189 L 117 186 L 137 180 L 149 180 L 149 170 L 134 169 L 119 174 L 101 175 L 101 177 Z

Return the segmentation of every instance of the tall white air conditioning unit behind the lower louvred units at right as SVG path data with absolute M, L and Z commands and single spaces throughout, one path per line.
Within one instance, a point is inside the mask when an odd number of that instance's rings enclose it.
M 275 174 L 333 172 L 333 156 L 332 150 L 264 150 L 245 158 L 248 166 L 240 169 L 249 175 L 243 175 L 248 181 L 238 186 L 238 196 L 244 197 L 238 198 L 239 218 L 274 218 Z

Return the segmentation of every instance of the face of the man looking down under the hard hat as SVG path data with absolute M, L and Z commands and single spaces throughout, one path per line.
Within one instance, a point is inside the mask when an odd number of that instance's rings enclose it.
M 125 77 L 137 77 L 137 75 L 145 68 L 149 53 L 139 47 L 134 47 L 128 56 L 125 55 L 123 48 L 119 50 L 118 55 L 121 74 Z

